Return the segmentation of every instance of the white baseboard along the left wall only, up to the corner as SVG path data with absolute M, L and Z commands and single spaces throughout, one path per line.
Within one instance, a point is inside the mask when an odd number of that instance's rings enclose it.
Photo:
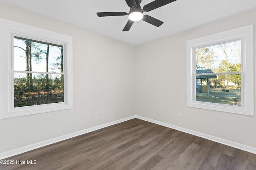
M 91 128 L 88 128 L 88 129 L 84 129 L 82 131 L 78 131 L 78 132 L 74 132 L 74 133 L 70 133 L 70 134 L 67 134 L 67 135 L 63 135 L 63 136 L 60 136 L 60 137 L 56 137 L 56 138 L 53 138 L 53 139 L 49 139 L 49 140 L 46 140 L 46 141 L 42 141 L 42 142 L 38 142 L 38 143 L 34 143 L 32 145 L 28 145 L 28 146 L 25 146 L 25 147 L 21 147 L 21 148 L 18 148 L 18 149 L 14 149 L 14 150 L 9 150 L 9 151 L 6 151 L 6 152 L 2 152 L 0 153 L 0 160 L 4 159 L 4 158 L 8 158 L 8 157 L 11 157 L 11 156 L 14 156 L 14 155 L 17 155 L 17 154 L 21 154 L 21 153 L 24 153 L 24 152 L 28 152 L 30 150 L 34 150 L 34 149 L 38 149 L 40 147 L 44 147 L 46 145 L 51 145 L 53 143 L 56 143 L 56 142 L 60 142 L 60 141 L 64 141 L 66 139 L 70 139 L 72 137 L 76 137 L 76 136 L 79 136 L 79 135 L 83 135 L 85 133 L 89 133 L 89 132 L 92 132 L 92 131 L 96 131 L 98 129 L 102 129 L 104 127 L 108 127 L 108 126 L 111 126 L 111 125 L 115 125 L 117 123 L 121 123 L 121 122 L 124 122 L 124 121 L 127 121 L 127 120 L 130 120 L 130 119 L 134 119 L 136 118 L 136 116 L 130 116 L 130 117 L 126 117 L 124 119 L 120 119 L 120 120 L 117 120 L 117 121 L 112 121 L 110 123 L 106 123 L 106 124 L 103 124 L 103 125 L 98 125 L 98 126 L 95 126 L 95 127 L 91 127 Z

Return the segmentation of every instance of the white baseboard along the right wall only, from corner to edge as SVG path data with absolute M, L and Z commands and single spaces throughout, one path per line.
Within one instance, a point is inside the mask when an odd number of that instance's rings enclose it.
M 161 122 L 161 121 L 157 121 L 157 120 L 154 120 L 154 119 L 149 119 L 149 118 L 138 116 L 138 115 L 136 115 L 136 118 L 142 119 L 144 121 L 149 121 L 151 123 L 155 123 L 155 124 L 158 124 L 158 125 L 169 127 L 171 129 L 175 129 L 175 130 L 178 130 L 178 131 L 189 133 L 191 135 L 202 137 L 204 139 L 208 139 L 208 140 L 211 140 L 211 141 L 214 141 L 214 142 L 218 142 L 218 143 L 221 143 L 221 144 L 224 144 L 224 145 L 228 145 L 230 147 L 234 147 L 234 148 L 237 148 L 237 149 L 245 150 L 247 152 L 251 152 L 251 153 L 256 154 L 256 148 L 254 148 L 254 147 L 250 147 L 250 146 L 243 145 L 243 144 L 240 144 L 240 143 L 228 141 L 226 139 L 222 139 L 222 138 L 219 138 L 219 137 L 214 137 L 214 136 L 211 136 L 211 135 L 207 135 L 207 134 L 200 133 L 200 132 L 197 132 L 197 131 L 192 131 L 190 129 L 186 129 L 186 128 L 183 128 L 183 127 L 178 127 L 178 126 L 175 126 L 175 125 L 171 125 L 171 124 L 168 124 L 168 123 L 164 123 L 164 122 Z

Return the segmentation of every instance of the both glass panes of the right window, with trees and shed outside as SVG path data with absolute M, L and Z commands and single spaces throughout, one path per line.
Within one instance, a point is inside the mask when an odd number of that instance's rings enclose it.
M 241 105 L 241 42 L 195 49 L 196 101 Z

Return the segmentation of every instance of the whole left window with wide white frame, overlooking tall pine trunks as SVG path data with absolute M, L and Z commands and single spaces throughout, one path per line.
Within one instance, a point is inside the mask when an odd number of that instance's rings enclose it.
M 72 37 L 14 21 L 0 22 L 5 25 L 1 44 L 7 47 L 0 51 L 7 58 L 2 70 L 8 70 L 8 100 L 1 106 L 0 118 L 71 109 Z

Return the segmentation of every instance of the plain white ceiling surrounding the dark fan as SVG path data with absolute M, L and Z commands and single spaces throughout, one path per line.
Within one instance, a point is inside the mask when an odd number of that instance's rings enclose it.
M 153 0 L 142 0 L 140 6 Z M 0 0 L 13 6 L 64 21 L 107 37 L 141 45 L 232 15 L 256 10 L 256 0 L 176 0 L 144 12 L 163 25 L 155 27 L 136 21 L 130 31 L 122 31 L 128 16 L 98 17 L 96 12 L 129 12 L 125 0 Z

